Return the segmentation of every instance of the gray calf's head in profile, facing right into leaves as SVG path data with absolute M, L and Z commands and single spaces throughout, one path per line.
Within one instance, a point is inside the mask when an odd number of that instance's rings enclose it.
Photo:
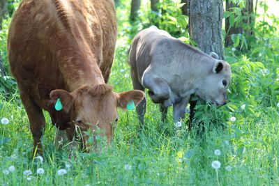
M 196 82 L 197 95 L 216 105 L 226 104 L 231 73 L 229 63 L 216 60 L 209 72 L 204 75 L 204 78 Z

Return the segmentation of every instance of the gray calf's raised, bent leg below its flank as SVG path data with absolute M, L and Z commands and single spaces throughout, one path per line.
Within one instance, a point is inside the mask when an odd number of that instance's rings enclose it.
M 144 72 L 142 83 L 145 88 L 148 88 L 149 96 L 155 103 L 160 103 L 168 100 L 171 94 L 171 89 L 167 82 L 158 75 L 154 75 L 151 70 Z

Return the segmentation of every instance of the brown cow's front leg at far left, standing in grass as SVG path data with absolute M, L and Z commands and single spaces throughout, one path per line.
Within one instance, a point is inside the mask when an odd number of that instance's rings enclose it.
M 29 118 L 30 130 L 33 136 L 33 153 L 43 155 L 42 137 L 45 130 L 45 117 L 43 111 L 31 100 L 29 95 L 20 93 L 22 103 Z

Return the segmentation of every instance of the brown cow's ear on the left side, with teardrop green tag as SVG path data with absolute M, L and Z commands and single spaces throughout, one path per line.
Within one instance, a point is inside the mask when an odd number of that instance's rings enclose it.
M 55 104 L 57 104 L 57 102 L 59 102 L 60 99 L 62 105 L 61 109 L 63 109 L 66 112 L 70 111 L 70 109 L 73 107 L 74 97 L 68 91 L 59 89 L 51 91 L 50 99 L 52 99 L 55 102 Z

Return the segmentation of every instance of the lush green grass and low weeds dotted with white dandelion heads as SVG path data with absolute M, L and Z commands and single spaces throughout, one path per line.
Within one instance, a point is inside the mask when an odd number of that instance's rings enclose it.
M 128 24 L 128 7 L 121 5 L 117 11 L 119 38 L 110 84 L 121 92 L 133 88 L 127 63 L 128 42 L 142 24 L 136 29 Z M 273 46 L 278 51 L 278 45 Z M 119 109 L 112 144 L 103 144 L 99 153 L 77 152 L 71 160 L 67 148 L 54 148 L 55 129 L 47 113 L 44 160 L 32 160 L 33 139 L 20 96 L 16 93 L 7 100 L 0 95 L 0 119 L 10 121 L 0 125 L 0 185 L 218 185 L 218 181 L 220 185 L 279 185 L 278 92 L 267 86 L 278 84 L 274 80 L 278 58 L 266 59 L 271 63 L 259 68 L 245 57 L 237 58 L 232 65 L 229 104 L 199 108 L 204 132 L 200 132 L 198 123 L 189 132 L 187 119 L 180 130 L 175 129 L 172 110 L 167 122 L 161 123 L 158 106 L 149 99 L 144 132 L 137 132 L 135 111 Z M 271 75 L 263 75 L 260 70 L 264 68 Z M 230 121 L 232 116 L 236 121 Z M 10 141 L 1 145 L 4 139 Z M 214 154 L 216 149 L 221 155 Z M 211 166 L 214 160 L 221 163 L 218 177 Z M 15 166 L 15 171 L 6 175 L 3 171 L 10 166 Z M 228 166 L 231 171 L 226 169 Z M 36 173 L 38 168 L 45 173 Z M 67 173 L 60 176 L 59 169 Z M 25 170 L 31 170 L 31 176 L 25 176 Z

